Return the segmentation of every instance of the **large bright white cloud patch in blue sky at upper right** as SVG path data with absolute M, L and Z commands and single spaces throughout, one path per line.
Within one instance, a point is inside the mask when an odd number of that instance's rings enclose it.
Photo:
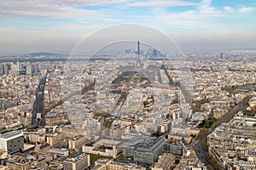
M 156 10 L 154 13 L 154 26 L 161 27 L 165 25 L 169 29 L 183 31 L 187 29 L 190 31 L 222 31 L 224 28 L 233 28 L 234 25 L 232 24 L 231 26 L 230 24 L 237 17 L 239 19 L 244 17 L 238 11 L 248 12 L 253 10 L 252 8 L 241 9 L 230 6 L 217 8 L 212 6 L 212 0 L 202 0 L 193 10 L 181 12 L 172 12 L 163 8 Z

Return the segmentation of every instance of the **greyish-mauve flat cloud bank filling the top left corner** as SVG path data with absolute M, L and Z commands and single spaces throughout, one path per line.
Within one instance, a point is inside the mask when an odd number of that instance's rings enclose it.
M 0 16 L 57 18 L 99 16 L 99 10 L 82 10 L 74 7 L 123 2 L 125 0 L 2 0 L 0 1 Z

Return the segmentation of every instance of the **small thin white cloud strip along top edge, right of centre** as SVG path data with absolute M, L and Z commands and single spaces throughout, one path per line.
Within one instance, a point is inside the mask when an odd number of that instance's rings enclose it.
M 189 3 L 185 1 L 150 1 L 131 3 L 132 7 L 176 7 L 176 6 L 194 6 L 197 3 Z

